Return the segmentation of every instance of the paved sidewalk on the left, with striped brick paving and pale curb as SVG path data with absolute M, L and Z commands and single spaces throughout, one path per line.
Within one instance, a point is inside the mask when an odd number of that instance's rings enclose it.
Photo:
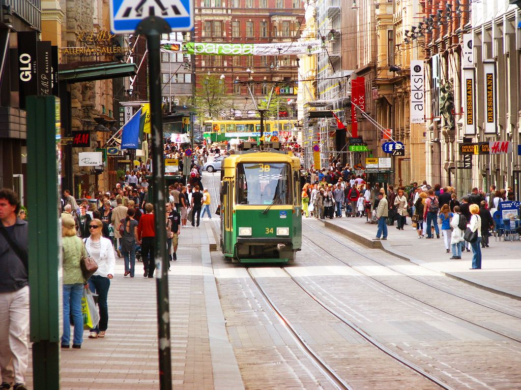
M 177 253 L 168 272 L 172 388 L 241 390 L 204 224 L 182 229 Z M 88 339 L 85 331 L 81 349 L 61 350 L 61 390 L 159 388 L 156 279 L 143 278 L 141 262 L 133 279 L 123 271 L 123 259 L 116 257 L 105 338 Z M 29 388 L 31 367 L 30 361 Z

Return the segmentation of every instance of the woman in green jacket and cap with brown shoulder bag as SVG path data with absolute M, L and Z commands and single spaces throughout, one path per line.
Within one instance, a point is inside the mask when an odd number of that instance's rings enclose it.
M 85 245 L 76 236 L 75 220 L 72 216 L 61 217 L 61 236 L 63 242 L 63 321 L 64 332 L 61 336 L 61 348 L 69 348 L 70 319 L 74 324 L 72 348 L 81 348 L 83 341 L 83 315 L 81 297 L 85 281 L 80 268 L 81 256 L 86 255 Z

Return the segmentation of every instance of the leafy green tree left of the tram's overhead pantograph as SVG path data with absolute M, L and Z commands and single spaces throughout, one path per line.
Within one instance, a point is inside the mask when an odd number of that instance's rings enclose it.
M 218 76 L 206 76 L 195 92 L 195 114 L 200 123 L 209 119 L 223 118 L 230 112 L 231 100 L 226 86 Z

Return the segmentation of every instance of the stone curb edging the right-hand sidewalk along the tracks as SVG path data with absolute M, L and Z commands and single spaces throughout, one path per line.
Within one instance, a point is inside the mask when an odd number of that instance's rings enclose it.
M 393 256 L 401 258 L 405 261 L 414 263 L 420 267 L 425 267 L 424 266 L 425 262 L 421 261 L 420 259 L 418 259 L 416 257 L 410 256 L 410 255 L 407 255 L 400 251 L 397 251 L 395 249 L 392 249 L 392 245 L 389 244 L 388 242 L 382 242 L 379 240 L 373 240 L 373 239 L 366 238 L 364 236 L 359 235 L 359 233 L 356 233 L 352 230 L 343 228 L 341 226 L 332 224 L 327 221 L 324 221 L 324 226 L 330 230 L 340 233 L 341 235 L 343 235 L 345 237 L 356 240 L 356 242 L 358 242 L 364 246 L 367 246 L 367 248 L 381 249 L 382 251 L 389 253 L 390 255 L 393 255 Z M 425 267 L 425 268 L 428 268 L 428 267 Z M 430 268 L 428 268 L 428 269 L 430 269 Z M 432 269 L 430 269 L 430 270 L 432 271 Z M 479 282 L 473 278 L 468 278 L 467 276 L 463 276 L 461 274 L 458 274 L 457 272 L 454 272 L 454 273 L 444 272 L 444 271 L 436 271 L 436 272 L 439 272 L 440 275 L 446 276 L 448 278 L 455 279 L 460 282 L 472 285 L 473 287 L 476 287 L 478 289 L 485 290 L 485 291 L 488 291 L 488 292 L 491 292 L 494 294 L 498 294 L 498 295 L 503 295 L 508 298 L 512 298 L 516 301 L 521 301 L 521 295 L 516 294 L 512 291 L 501 290 L 501 288 L 499 288 L 493 284 L 482 284 L 482 282 Z

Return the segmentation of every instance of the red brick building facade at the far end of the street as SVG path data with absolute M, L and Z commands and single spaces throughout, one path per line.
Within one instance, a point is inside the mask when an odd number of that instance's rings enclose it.
M 304 21 L 301 0 L 200 0 L 195 5 L 195 42 L 214 43 L 277 43 L 296 41 Z M 296 56 L 196 56 L 196 86 L 205 77 L 224 75 L 226 93 L 233 101 L 235 115 L 247 116 L 254 110 L 247 86 L 234 81 L 261 82 L 253 84 L 256 99 L 264 98 L 272 84 L 262 81 L 286 81 L 280 84 L 280 96 L 296 100 Z M 287 88 L 284 88 L 286 86 Z M 287 108 L 284 108 L 286 110 Z M 233 112 L 230 113 L 233 116 Z

